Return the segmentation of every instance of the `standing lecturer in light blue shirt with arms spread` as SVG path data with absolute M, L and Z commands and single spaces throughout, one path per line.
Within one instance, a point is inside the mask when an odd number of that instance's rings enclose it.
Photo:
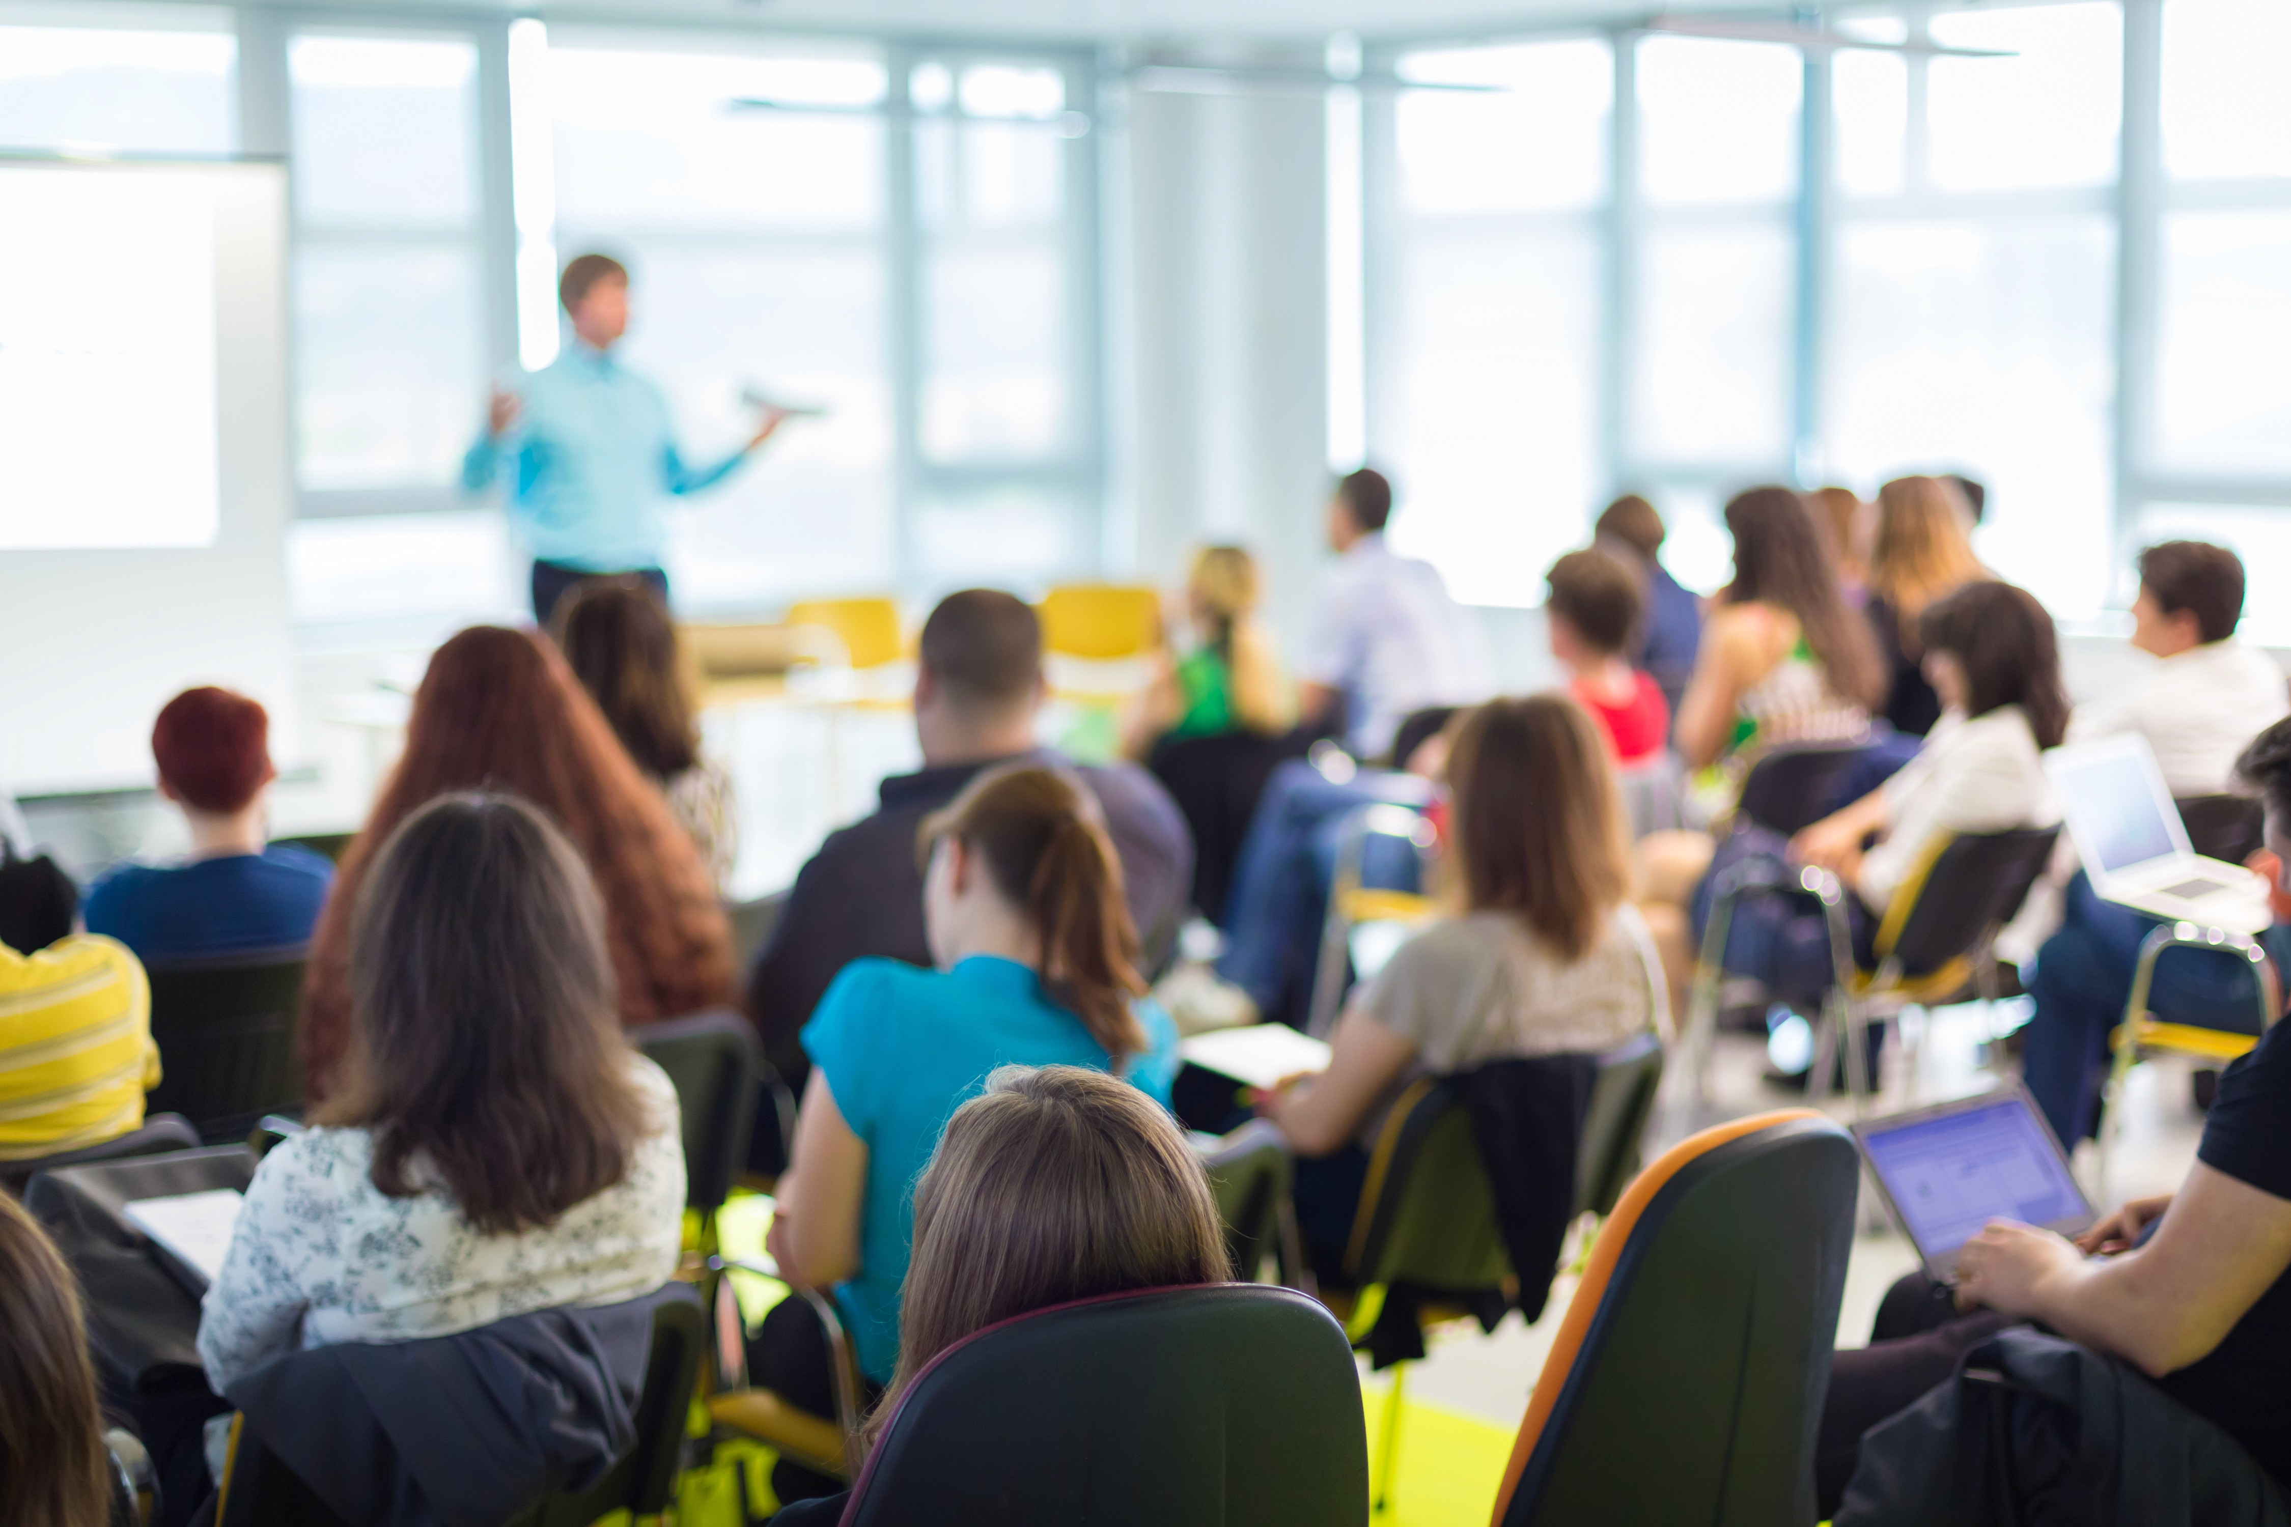
M 460 465 L 470 492 L 509 472 L 509 513 L 534 547 L 534 620 L 543 630 L 557 600 L 596 577 L 641 577 L 667 602 L 662 497 L 722 483 L 788 417 L 765 408 L 745 446 L 713 467 L 687 467 L 660 389 L 612 357 L 628 332 L 621 261 L 577 256 L 557 282 L 557 300 L 573 321 L 573 343 L 525 380 L 522 396 L 495 389 L 486 435 Z

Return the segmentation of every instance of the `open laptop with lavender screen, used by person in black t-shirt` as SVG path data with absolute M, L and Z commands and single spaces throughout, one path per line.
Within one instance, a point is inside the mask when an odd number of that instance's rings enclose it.
M 2092 1227 L 2092 1202 L 2021 1085 L 1863 1119 L 1853 1142 L 1936 1282 L 1957 1282 L 1957 1252 L 1989 1220 Z

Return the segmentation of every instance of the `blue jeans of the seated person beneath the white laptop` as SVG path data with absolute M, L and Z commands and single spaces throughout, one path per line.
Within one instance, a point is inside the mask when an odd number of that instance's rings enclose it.
M 2156 918 L 2103 902 L 2092 881 L 2078 872 L 2069 881 L 2060 932 L 2037 950 L 2037 971 L 2028 980 L 2037 1016 L 2023 1030 L 2028 1049 L 2021 1055 L 2021 1078 L 2053 1133 L 2071 1149 L 2101 1126 L 2108 1032 L 2124 1021 L 2140 943 L 2154 927 Z M 2277 962 L 2282 962 L 2277 941 L 2284 932 L 2266 934 Z M 2252 980 L 2252 968 L 2241 955 L 2165 950 L 2156 957 L 2149 1012 L 2160 1019 L 2259 1032 Z

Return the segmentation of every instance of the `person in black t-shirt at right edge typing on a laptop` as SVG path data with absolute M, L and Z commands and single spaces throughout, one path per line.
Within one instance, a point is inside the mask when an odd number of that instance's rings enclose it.
M 2291 721 L 2243 755 L 2266 799 L 2277 918 L 2291 865 Z M 2284 925 L 2270 929 L 2282 962 Z M 1828 1516 L 1863 1433 L 1947 1380 L 1957 1358 L 2011 1321 L 2121 1358 L 2236 1438 L 2291 1490 L 2291 1023 L 2220 1076 L 2179 1193 L 2124 1204 L 2073 1245 L 1991 1220 L 1959 1255 L 1957 1305 L 1913 1275 L 1888 1296 L 1863 1351 L 1837 1353 L 1821 1417 Z

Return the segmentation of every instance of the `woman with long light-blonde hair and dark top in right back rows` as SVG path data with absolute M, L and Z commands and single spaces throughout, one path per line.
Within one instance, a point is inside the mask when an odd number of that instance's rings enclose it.
M 1897 476 L 1876 492 L 1876 552 L 1869 559 L 1869 632 L 1890 689 L 1885 721 L 1922 737 L 1940 719 L 1940 698 L 1924 682 L 1918 616 L 1934 600 L 1989 577 L 1973 554 L 1973 511 L 1945 476 Z

